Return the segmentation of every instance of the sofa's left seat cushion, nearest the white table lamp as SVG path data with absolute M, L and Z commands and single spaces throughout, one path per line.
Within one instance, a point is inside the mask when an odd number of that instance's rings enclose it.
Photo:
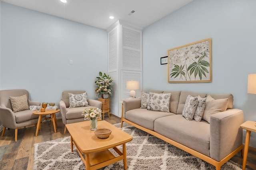
M 132 109 L 126 111 L 126 119 L 154 131 L 154 121 L 160 117 L 175 115 L 174 113 L 147 109 Z

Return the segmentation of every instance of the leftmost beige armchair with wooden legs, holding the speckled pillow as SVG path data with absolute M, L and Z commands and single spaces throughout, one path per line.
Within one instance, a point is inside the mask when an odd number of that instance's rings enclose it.
M 18 129 L 36 125 L 38 115 L 34 115 L 30 109 L 14 112 L 12 108 L 11 97 L 27 96 L 28 106 L 40 106 L 39 102 L 31 102 L 29 100 L 28 91 L 24 89 L 16 90 L 0 90 L 0 119 L 3 125 L 2 136 L 7 128 L 15 129 L 15 141 L 18 137 Z

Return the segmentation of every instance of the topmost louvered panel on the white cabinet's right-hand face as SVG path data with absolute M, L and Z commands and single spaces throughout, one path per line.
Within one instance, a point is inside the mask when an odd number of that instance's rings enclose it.
M 123 27 L 123 46 L 141 50 L 141 32 Z

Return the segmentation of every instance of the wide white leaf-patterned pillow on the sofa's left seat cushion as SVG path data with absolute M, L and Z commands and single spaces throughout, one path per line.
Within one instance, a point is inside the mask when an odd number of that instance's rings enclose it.
M 170 93 L 166 93 L 166 94 L 149 93 L 149 102 L 148 102 L 147 109 L 170 112 L 169 111 L 170 97 L 171 97 Z

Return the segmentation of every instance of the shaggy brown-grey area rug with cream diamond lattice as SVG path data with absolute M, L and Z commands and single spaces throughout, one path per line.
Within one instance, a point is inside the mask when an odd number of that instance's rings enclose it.
M 120 128 L 120 123 L 115 125 Z M 133 136 L 126 143 L 128 170 L 214 170 L 203 160 L 174 147 L 127 123 L 123 131 Z M 120 149 L 122 149 L 120 147 Z M 114 153 L 114 152 L 113 152 Z M 241 170 L 242 166 L 229 160 L 221 170 Z M 35 144 L 34 170 L 84 170 L 76 147 L 70 151 L 70 137 Z M 123 161 L 118 161 L 100 170 L 123 170 Z

